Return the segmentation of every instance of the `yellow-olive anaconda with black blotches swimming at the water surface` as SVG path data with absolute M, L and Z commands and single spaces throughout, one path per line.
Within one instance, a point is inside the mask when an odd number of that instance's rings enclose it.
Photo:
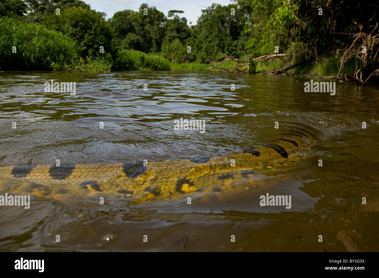
M 299 125 L 280 139 L 228 155 L 182 161 L 0 167 L 0 189 L 59 199 L 72 194 L 121 194 L 130 203 L 224 191 L 253 179 L 270 162 L 286 162 L 315 143 L 318 130 Z

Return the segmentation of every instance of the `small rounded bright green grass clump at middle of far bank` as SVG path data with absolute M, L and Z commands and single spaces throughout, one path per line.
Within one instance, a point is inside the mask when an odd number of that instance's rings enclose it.
M 137 50 L 121 49 L 116 53 L 116 70 L 170 70 L 170 62 L 162 56 Z

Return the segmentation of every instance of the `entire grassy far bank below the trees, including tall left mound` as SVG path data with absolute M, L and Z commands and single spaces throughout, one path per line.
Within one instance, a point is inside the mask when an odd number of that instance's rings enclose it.
M 16 32 L 14 30 L 17 30 Z M 291 48 L 284 53 L 263 56 L 256 54 L 234 55 L 219 53 L 216 57 L 199 56 L 198 49 L 184 51 L 182 59 L 168 56 L 162 51 L 145 53 L 126 49 L 117 43 L 100 46 L 99 51 L 90 54 L 81 50 L 80 44 L 60 31 L 47 26 L 22 22 L 8 17 L 0 17 L 0 70 L 55 70 L 67 72 L 110 73 L 118 70 L 180 70 L 201 72 L 229 72 L 251 74 L 284 74 L 307 78 L 338 79 L 341 82 L 355 81 L 359 84 L 379 84 L 379 69 L 372 61 L 365 66 L 362 76 L 362 57 L 345 54 L 334 56 L 318 55 L 305 59 Z M 91 46 L 94 50 L 94 46 Z M 86 48 L 88 50 L 88 48 Z M 174 50 L 170 50 L 174 51 Z M 272 51 L 272 50 L 271 50 Z M 262 54 L 262 51 L 260 52 Z M 343 53 L 341 51 L 341 53 Z M 253 56 L 254 55 L 254 56 Z M 202 61 L 202 62 L 201 62 Z M 371 64 L 370 64 L 371 63 Z M 357 69 L 359 68 L 359 69 Z M 362 69 L 362 70 L 360 70 Z M 371 75 L 370 75 L 371 73 Z

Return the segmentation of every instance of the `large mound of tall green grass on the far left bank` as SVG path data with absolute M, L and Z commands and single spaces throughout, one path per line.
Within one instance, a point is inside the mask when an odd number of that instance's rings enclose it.
M 12 52 L 13 46 L 16 53 Z M 50 70 L 52 63 L 75 61 L 77 49 L 77 44 L 60 32 L 0 17 L 1 70 Z

